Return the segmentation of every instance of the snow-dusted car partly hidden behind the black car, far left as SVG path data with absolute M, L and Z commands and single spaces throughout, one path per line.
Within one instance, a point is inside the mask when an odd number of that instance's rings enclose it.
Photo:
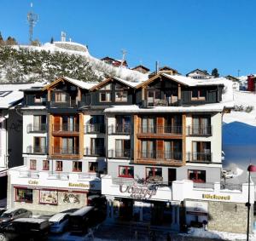
M 9 209 L 0 216 L 0 227 L 6 227 L 17 218 L 31 217 L 32 212 L 27 209 Z

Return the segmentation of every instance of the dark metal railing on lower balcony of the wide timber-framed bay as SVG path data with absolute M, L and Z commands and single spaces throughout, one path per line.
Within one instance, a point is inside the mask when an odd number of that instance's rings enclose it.
M 138 152 L 138 158 L 182 161 L 183 152 Z

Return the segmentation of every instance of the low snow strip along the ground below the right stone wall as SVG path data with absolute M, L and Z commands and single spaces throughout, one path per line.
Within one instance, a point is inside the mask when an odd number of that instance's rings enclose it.
M 218 238 L 224 240 L 247 240 L 246 234 L 234 233 L 234 232 L 218 232 L 218 231 L 206 231 L 203 228 L 191 227 L 188 234 L 184 236 L 193 236 L 200 238 Z M 251 241 L 256 241 L 255 234 L 250 234 Z

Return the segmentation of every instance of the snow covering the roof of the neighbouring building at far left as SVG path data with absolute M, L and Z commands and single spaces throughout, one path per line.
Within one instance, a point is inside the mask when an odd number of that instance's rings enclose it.
M 20 89 L 30 89 L 35 85 L 38 85 L 38 83 L 0 84 L 0 108 L 6 109 L 14 106 L 24 96 L 23 91 Z

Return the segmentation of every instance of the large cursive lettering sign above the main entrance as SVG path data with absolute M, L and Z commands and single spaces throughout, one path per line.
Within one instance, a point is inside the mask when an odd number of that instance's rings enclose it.
M 125 186 L 120 185 L 119 191 L 124 193 L 128 192 L 131 193 L 131 198 L 152 198 L 156 194 L 157 187 L 151 186 L 148 188 L 148 186 Z

